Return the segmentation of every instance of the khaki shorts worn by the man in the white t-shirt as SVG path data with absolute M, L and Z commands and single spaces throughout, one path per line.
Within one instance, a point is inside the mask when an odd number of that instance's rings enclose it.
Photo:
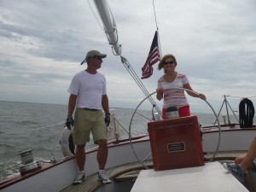
M 107 126 L 102 110 L 90 111 L 77 108 L 74 116 L 73 143 L 81 145 L 90 142 L 90 131 L 94 142 L 107 139 Z

